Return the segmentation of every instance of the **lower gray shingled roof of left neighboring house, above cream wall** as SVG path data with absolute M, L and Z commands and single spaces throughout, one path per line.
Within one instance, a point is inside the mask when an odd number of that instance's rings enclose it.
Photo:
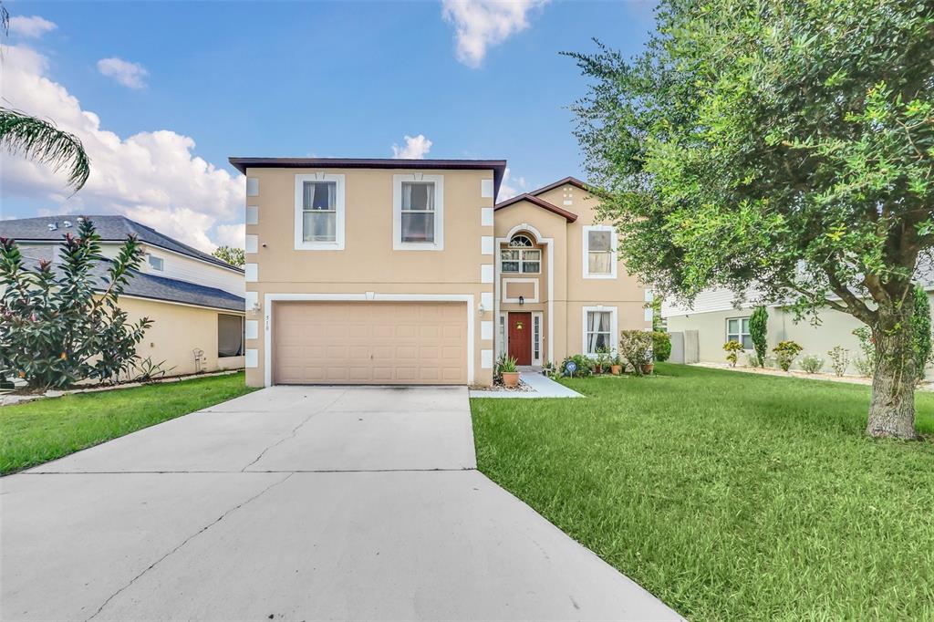
M 30 248 L 28 252 L 23 253 L 23 258 L 30 267 L 35 268 L 39 261 L 45 260 L 52 262 L 58 254 L 58 247 Z M 97 279 L 95 290 L 105 290 L 109 280 L 107 279 L 107 268 L 109 260 L 98 262 L 94 265 L 92 275 Z M 54 263 L 54 262 L 53 262 Z M 230 311 L 243 311 L 247 307 L 247 301 L 229 291 L 209 288 L 197 283 L 188 281 L 179 281 L 175 278 L 165 276 L 147 275 L 142 272 L 133 272 L 133 278 L 123 293 L 127 296 L 138 296 L 139 298 L 149 298 L 157 301 L 168 301 L 172 303 L 196 304 L 198 306 L 210 306 L 218 309 L 227 309 Z

